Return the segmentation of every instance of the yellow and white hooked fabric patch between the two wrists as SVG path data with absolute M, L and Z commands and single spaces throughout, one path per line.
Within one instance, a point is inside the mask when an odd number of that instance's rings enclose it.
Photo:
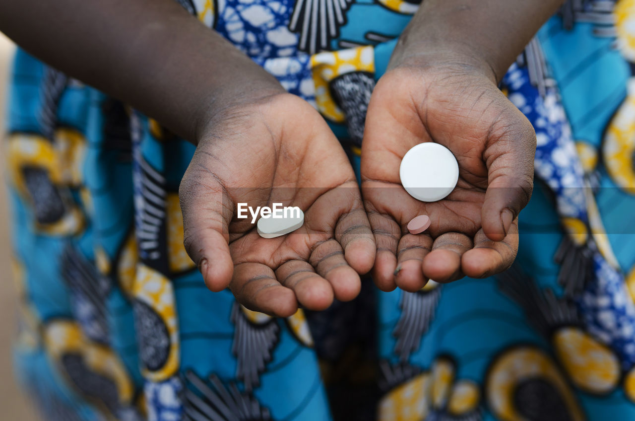
M 331 97 L 331 80 L 350 72 L 375 72 L 375 51 L 372 46 L 347 48 L 335 52 L 322 52 L 311 57 L 313 83 L 316 88 L 318 111 L 329 120 L 344 123 L 344 111 Z

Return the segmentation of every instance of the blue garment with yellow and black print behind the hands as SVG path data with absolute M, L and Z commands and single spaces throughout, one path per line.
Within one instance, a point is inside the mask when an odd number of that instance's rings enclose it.
M 178 0 L 311 102 L 359 174 L 406 0 Z M 274 319 L 182 244 L 194 146 L 15 58 L 15 364 L 48 420 L 635 418 L 635 0 L 568 1 L 501 85 L 535 127 L 510 270 Z M 204 71 L 204 69 L 201 69 Z

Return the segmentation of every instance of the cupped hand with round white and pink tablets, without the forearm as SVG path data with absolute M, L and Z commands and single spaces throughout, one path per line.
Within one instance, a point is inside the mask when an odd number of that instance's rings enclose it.
M 401 159 L 421 142 L 446 146 L 458 161 L 458 184 L 438 202 L 416 200 L 399 180 Z M 361 158 L 378 287 L 417 291 L 429 279 L 508 268 L 533 189 L 535 145 L 529 121 L 476 67 L 411 60 L 386 72 L 371 96 Z M 411 235 L 406 225 L 421 214 L 431 226 Z

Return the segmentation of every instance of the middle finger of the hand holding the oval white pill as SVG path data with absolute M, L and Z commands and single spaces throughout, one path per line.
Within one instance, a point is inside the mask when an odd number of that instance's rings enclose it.
M 302 307 L 324 310 L 333 303 L 333 287 L 315 272 L 313 266 L 301 260 L 290 260 L 276 269 L 276 278 L 295 293 Z

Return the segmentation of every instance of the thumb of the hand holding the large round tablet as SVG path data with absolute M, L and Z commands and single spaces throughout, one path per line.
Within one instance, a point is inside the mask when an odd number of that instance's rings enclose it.
M 531 198 L 536 151 L 533 127 L 518 109 L 502 118 L 504 124 L 498 121 L 492 125 L 483 154 L 488 167 L 488 188 L 481 221 L 485 235 L 493 241 L 505 238 L 512 221 Z

